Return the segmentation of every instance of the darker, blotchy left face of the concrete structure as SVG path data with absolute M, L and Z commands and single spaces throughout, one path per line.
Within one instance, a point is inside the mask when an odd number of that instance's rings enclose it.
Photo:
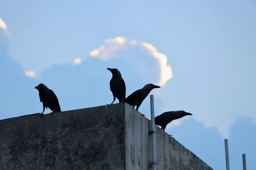
M 0 121 L 0 169 L 124 167 L 124 106 Z

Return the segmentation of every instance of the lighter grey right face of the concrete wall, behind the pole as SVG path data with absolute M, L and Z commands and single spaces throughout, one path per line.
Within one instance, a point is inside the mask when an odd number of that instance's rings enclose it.
M 152 137 L 150 120 L 125 105 L 126 169 L 152 169 Z M 210 170 L 205 162 L 190 152 L 166 132 L 156 127 L 157 169 Z

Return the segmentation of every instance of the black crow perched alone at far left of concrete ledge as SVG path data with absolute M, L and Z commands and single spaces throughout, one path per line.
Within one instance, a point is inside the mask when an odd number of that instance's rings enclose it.
M 40 102 L 43 103 L 44 110 L 42 111 L 42 114 L 44 113 L 45 108 L 49 108 L 52 112 L 61 111 L 58 98 L 51 89 L 48 89 L 43 83 L 40 83 L 35 89 L 39 91 Z

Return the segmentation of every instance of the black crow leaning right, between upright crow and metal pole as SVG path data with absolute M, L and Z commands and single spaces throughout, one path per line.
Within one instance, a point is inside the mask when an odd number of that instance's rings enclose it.
M 160 88 L 158 85 L 147 84 L 142 89 L 136 90 L 130 96 L 125 99 L 125 102 L 130 104 L 132 107 L 137 106 L 136 110 L 139 109 L 143 100 L 148 96 L 152 89 Z

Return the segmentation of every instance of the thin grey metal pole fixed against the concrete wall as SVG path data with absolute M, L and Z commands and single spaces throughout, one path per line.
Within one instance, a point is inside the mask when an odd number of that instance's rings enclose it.
M 156 125 L 155 125 L 155 111 L 154 111 L 154 95 L 150 95 L 150 113 L 151 113 L 151 131 L 152 131 L 152 147 L 153 147 L 153 169 L 156 167 Z

